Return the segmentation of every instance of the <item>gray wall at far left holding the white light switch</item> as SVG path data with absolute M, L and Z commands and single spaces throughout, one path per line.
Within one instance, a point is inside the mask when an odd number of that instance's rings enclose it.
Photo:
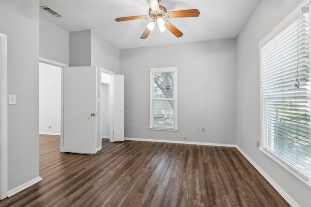
M 39 176 L 39 1 L 1 0 L 8 35 L 8 190 Z

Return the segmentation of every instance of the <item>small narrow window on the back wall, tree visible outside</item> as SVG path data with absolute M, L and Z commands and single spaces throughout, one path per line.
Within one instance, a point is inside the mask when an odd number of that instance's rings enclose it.
M 177 68 L 150 69 L 150 129 L 177 130 Z

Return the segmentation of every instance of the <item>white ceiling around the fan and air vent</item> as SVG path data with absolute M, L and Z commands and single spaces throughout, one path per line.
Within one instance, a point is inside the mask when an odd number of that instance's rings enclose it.
M 89 30 L 98 33 L 116 47 L 139 48 L 157 45 L 228 39 L 238 36 L 259 0 L 161 0 L 167 11 L 198 9 L 199 17 L 168 19 L 184 35 L 160 33 L 155 27 L 147 39 L 140 39 L 150 19 L 116 22 L 117 17 L 148 15 L 148 0 L 40 0 L 64 16 L 54 18 L 40 10 L 61 28 L 71 32 Z

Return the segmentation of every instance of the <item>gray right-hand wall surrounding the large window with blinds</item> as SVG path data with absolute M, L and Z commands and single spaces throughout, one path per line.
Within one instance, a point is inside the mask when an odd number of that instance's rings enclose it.
M 237 38 L 237 144 L 300 206 L 311 204 L 311 191 L 256 148 L 260 140 L 259 41 L 300 1 L 260 1 Z

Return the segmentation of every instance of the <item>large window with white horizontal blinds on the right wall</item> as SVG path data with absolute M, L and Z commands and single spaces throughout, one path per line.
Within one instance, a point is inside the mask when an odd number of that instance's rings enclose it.
M 309 18 L 259 47 L 262 147 L 311 180 Z

